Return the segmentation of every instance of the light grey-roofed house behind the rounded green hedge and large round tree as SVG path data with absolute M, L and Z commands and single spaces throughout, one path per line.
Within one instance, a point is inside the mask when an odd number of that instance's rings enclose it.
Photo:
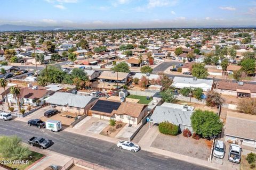
M 184 129 L 193 131 L 190 120 L 193 110 L 194 107 L 191 106 L 163 103 L 154 109 L 153 114 L 150 116 L 150 124 L 159 124 L 168 121 L 178 125 L 181 131 Z

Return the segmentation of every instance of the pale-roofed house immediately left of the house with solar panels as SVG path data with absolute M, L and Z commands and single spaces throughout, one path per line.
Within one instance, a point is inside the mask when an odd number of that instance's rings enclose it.
M 97 100 L 97 97 L 92 96 L 75 95 L 67 92 L 55 92 L 54 95 L 46 100 L 46 103 L 62 112 L 84 115 L 87 114 L 87 111 L 89 111 Z

